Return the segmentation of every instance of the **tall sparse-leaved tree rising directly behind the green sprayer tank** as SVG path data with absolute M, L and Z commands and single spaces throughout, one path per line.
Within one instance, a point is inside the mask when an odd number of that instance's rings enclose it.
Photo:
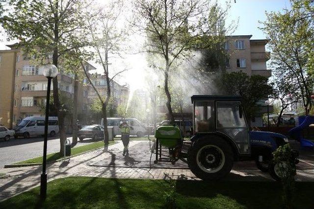
M 177 70 L 182 60 L 189 59 L 195 48 L 222 45 L 217 37 L 225 35 L 228 9 L 229 6 L 224 10 L 210 0 L 135 0 L 139 14 L 135 25 L 146 34 L 146 51 L 161 60 L 157 69 L 164 76 L 166 106 L 172 122 L 169 72 Z

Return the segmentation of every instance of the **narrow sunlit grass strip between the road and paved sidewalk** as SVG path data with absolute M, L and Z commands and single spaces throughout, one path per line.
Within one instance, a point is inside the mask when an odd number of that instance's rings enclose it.
M 115 141 L 109 141 L 109 145 L 116 143 Z M 71 155 L 77 155 L 89 150 L 93 150 L 96 148 L 101 148 L 104 146 L 104 141 L 98 141 L 98 142 L 94 142 L 94 143 L 90 143 L 87 145 L 83 145 L 83 146 L 79 146 L 79 147 L 74 147 L 71 148 Z M 47 162 L 52 162 L 52 161 L 56 161 L 58 159 L 63 158 L 63 155 L 61 155 L 59 152 L 57 153 L 52 153 L 47 155 Z M 18 163 L 14 163 L 14 164 L 28 164 L 28 163 L 43 163 L 43 157 L 37 157 L 37 158 L 32 158 L 32 159 L 28 159 L 26 161 L 21 161 Z

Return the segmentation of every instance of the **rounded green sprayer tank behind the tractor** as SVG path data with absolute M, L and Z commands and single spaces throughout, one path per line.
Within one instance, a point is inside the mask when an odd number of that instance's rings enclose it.
M 155 138 L 162 146 L 174 148 L 182 141 L 181 130 L 178 126 L 173 125 L 159 126 L 155 132 Z

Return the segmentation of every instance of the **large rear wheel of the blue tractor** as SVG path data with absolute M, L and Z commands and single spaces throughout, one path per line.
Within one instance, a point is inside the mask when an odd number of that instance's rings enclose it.
M 217 180 L 231 171 L 234 153 L 224 139 L 199 139 L 190 148 L 187 163 L 198 178 Z

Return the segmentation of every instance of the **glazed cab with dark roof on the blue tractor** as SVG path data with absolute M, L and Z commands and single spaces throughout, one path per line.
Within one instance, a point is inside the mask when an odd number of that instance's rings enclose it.
M 228 140 L 238 154 L 250 154 L 249 128 L 240 96 L 193 95 L 191 100 L 194 139 L 215 134 Z

